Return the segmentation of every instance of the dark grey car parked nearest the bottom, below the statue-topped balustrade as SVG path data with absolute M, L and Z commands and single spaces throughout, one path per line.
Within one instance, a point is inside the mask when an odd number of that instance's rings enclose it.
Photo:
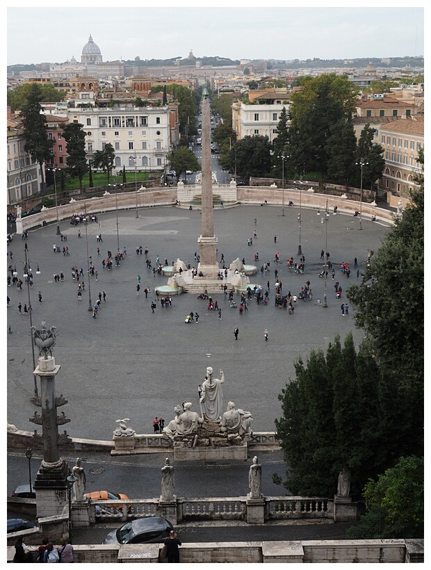
M 172 524 L 161 516 L 147 516 L 125 523 L 108 532 L 103 544 L 143 544 L 163 542 L 173 530 Z

